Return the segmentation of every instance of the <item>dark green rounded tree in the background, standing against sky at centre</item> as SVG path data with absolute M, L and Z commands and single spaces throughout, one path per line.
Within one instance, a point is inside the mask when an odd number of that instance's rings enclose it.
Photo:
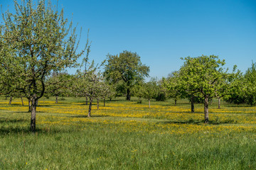
M 104 77 L 110 84 L 122 82 L 126 89 L 127 101 L 131 99 L 131 89 L 144 77 L 149 76 L 149 67 L 142 64 L 136 52 L 123 51 L 119 55 L 107 55 Z

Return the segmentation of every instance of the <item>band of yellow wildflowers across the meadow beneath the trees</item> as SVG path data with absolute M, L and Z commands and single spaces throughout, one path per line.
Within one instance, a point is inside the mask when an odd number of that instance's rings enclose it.
M 28 103 L 13 102 L 9 106 L 0 101 L 0 110 L 27 112 Z M 124 132 L 151 132 L 161 134 L 213 133 L 256 131 L 256 107 L 209 109 L 210 120 L 215 124 L 204 125 L 202 108 L 190 113 L 190 109 L 182 106 L 159 106 L 137 103 L 107 103 L 97 110 L 92 106 L 92 118 L 87 118 L 88 106 L 83 103 L 40 102 L 37 108 L 37 123 L 41 125 L 75 125 L 97 123 L 110 125 Z M 40 114 L 49 113 L 49 114 Z M 52 114 L 57 113 L 57 114 Z M 85 115 L 85 116 L 81 116 Z M 95 117 L 93 117 L 95 115 Z

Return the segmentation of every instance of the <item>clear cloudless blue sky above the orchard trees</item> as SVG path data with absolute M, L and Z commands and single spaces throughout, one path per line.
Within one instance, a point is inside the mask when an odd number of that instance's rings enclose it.
M 13 10 L 11 0 L 0 4 Z M 80 45 L 90 29 L 96 62 L 107 53 L 137 52 L 158 78 L 178 70 L 181 57 L 218 55 L 242 72 L 256 62 L 255 0 L 59 0 L 58 6 L 82 27 Z

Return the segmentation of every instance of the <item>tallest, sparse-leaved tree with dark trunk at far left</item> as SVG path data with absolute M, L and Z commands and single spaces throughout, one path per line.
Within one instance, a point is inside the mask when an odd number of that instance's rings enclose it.
M 16 13 L 3 14 L 1 25 L 1 65 L 8 70 L 9 80 L 16 79 L 11 89 L 21 91 L 31 100 L 31 131 L 36 130 L 36 103 L 46 90 L 50 72 L 73 67 L 82 52 L 76 53 L 78 40 L 72 23 L 54 8 L 50 0 L 14 1 Z M 4 49 L 3 49 L 4 48 Z

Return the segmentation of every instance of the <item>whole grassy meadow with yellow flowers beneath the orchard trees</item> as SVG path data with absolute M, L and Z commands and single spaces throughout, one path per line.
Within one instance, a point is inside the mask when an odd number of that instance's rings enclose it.
M 0 169 L 256 169 L 256 107 L 116 98 L 38 102 L 36 129 L 20 98 L 0 98 Z

